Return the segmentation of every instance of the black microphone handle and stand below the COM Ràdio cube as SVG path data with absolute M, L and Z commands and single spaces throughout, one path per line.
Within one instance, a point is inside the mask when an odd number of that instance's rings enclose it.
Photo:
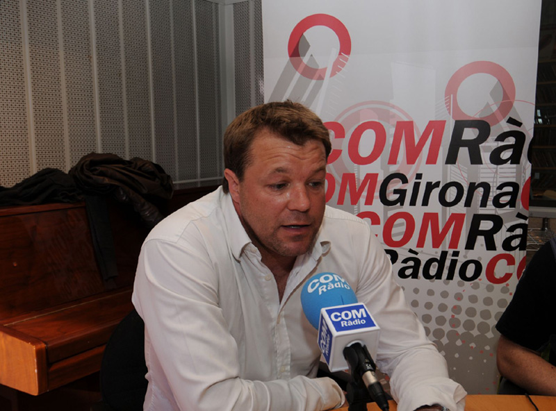
M 375 376 L 377 366 L 370 357 L 366 346 L 355 342 L 343 349 L 343 356 L 350 366 L 352 383 L 347 386 L 349 411 L 366 410 L 369 399 L 373 399 L 382 411 L 389 411 L 388 399 L 379 380 Z M 352 408 L 352 401 L 354 408 Z

